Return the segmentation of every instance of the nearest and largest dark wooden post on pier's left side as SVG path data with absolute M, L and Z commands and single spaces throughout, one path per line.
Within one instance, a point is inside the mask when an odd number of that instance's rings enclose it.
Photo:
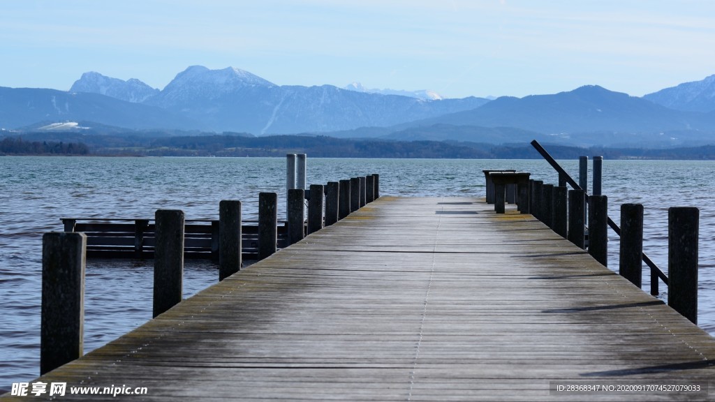
M 84 233 L 42 236 L 41 375 L 82 356 L 86 251 Z

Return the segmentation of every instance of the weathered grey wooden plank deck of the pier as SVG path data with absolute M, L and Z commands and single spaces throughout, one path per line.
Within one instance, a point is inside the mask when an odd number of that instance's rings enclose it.
M 714 401 L 714 362 L 715 338 L 531 215 L 381 197 L 40 380 L 58 401 Z M 92 385 L 148 393 L 69 395 Z

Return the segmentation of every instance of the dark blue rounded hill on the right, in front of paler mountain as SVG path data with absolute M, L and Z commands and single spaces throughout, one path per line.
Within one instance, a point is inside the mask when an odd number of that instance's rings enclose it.
M 501 97 L 483 107 L 403 124 L 516 127 L 543 134 L 580 132 L 664 132 L 673 129 L 715 129 L 712 115 L 668 109 L 645 99 L 588 85 L 571 92 Z

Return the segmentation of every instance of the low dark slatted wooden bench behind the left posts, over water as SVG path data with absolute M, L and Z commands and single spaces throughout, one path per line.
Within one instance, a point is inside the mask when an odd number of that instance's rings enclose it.
M 153 219 L 99 219 L 63 217 L 65 232 L 84 232 L 87 235 L 87 258 L 154 258 Z M 258 222 L 244 221 L 241 225 L 242 258 L 257 260 Z M 288 245 L 287 225 L 279 221 L 277 247 Z M 219 221 L 187 220 L 184 225 L 184 258 L 219 258 Z

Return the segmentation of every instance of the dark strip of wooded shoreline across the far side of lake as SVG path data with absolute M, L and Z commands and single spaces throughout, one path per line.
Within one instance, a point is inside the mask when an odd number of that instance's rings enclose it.
M 149 137 L 140 135 L 42 138 L 24 134 L 0 140 L 0 155 L 87 155 L 151 157 L 310 157 L 426 158 L 426 159 L 540 159 L 531 144 L 478 142 L 390 141 L 342 139 L 325 136 L 240 134 Z M 715 160 L 715 145 L 664 149 L 567 147 L 544 144 L 557 159 L 602 155 L 608 160 Z

